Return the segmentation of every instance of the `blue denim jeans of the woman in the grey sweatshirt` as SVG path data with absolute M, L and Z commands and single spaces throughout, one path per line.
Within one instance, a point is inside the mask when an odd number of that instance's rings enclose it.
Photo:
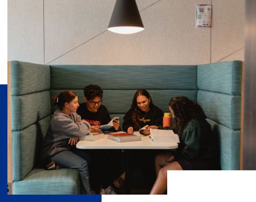
M 89 181 L 88 163 L 91 161 L 90 155 L 83 149 L 73 148 L 61 151 L 49 158 L 54 161 L 59 168 L 77 169 L 80 173 L 80 189 L 83 195 L 92 195 Z

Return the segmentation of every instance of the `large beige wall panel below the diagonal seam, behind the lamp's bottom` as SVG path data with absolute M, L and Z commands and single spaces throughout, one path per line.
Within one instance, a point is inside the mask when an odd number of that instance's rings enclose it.
M 200 2 L 161 0 L 140 13 L 144 31 L 131 35 L 104 32 L 50 64 L 209 63 L 211 28 L 195 27 L 196 3 Z

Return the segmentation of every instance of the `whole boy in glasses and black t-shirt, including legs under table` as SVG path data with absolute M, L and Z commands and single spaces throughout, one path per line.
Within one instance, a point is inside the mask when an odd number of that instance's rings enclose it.
M 91 132 L 100 132 L 99 126 L 111 121 L 107 108 L 102 105 L 103 90 L 98 85 L 87 85 L 84 88 L 85 103 L 79 104 L 77 114 L 92 126 Z M 120 131 L 120 121 L 113 121 L 113 127 L 108 131 Z M 103 189 L 108 187 L 110 179 L 113 179 L 118 166 L 121 150 L 93 149 L 86 150 L 92 156 L 89 167 L 91 186 L 97 190 L 100 185 Z

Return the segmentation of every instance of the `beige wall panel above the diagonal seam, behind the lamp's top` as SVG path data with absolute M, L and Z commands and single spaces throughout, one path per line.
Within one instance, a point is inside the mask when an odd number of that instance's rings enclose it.
M 115 2 L 115 0 L 44 0 L 45 63 L 105 32 Z M 155 2 L 157 0 L 140 0 L 138 8 L 142 10 Z M 85 54 L 79 55 L 83 57 Z

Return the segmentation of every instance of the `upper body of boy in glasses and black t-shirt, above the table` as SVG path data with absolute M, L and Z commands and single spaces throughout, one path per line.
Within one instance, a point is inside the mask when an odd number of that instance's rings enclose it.
M 111 121 L 107 108 L 102 105 L 103 90 L 98 85 L 87 85 L 84 88 L 85 103 L 80 104 L 77 114 L 92 126 L 92 132 L 100 132 L 99 126 Z M 108 131 L 120 131 L 120 121 L 113 121 L 113 127 Z

